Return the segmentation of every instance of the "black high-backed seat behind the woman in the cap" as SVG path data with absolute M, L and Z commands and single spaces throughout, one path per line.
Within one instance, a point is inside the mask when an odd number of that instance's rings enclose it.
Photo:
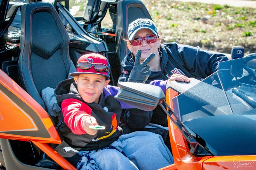
M 117 3 L 117 26 L 116 26 L 116 59 L 119 70 L 122 70 L 121 62 L 129 53 L 126 42 L 129 24 L 138 18 L 152 19 L 147 8 L 140 0 L 121 0 Z

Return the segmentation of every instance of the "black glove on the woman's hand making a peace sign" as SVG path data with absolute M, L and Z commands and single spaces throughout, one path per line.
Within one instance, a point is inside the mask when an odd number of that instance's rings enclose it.
M 151 74 L 148 63 L 152 60 L 152 58 L 154 58 L 155 54 L 150 54 L 141 64 L 140 55 L 141 49 L 138 50 L 135 56 L 134 66 L 128 78 L 128 82 L 145 83 L 148 80 L 149 75 Z

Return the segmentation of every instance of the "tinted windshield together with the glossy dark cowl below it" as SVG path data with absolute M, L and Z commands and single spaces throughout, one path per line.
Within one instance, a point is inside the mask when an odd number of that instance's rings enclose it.
M 256 153 L 255 69 L 256 55 L 221 62 L 217 72 L 172 99 L 174 113 L 213 155 Z

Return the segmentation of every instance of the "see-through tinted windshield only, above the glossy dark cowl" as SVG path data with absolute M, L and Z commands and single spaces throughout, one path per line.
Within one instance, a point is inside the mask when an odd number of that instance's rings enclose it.
M 174 112 L 185 122 L 206 116 L 243 114 L 254 109 L 255 69 L 256 55 L 221 62 L 217 72 L 173 98 Z

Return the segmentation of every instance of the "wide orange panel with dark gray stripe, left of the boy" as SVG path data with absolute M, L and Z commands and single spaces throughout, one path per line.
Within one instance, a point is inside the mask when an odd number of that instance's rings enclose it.
M 0 70 L 0 137 L 5 139 L 15 139 L 23 141 L 41 141 L 44 143 L 60 144 L 60 137 L 44 108 L 42 108 L 27 92 L 25 92 L 17 83 Z M 16 100 L 16 101 L 15 101 Z M 19 101 L 22 104 L 17 104 Z M 31 112 L 36 113 L 47 129 L 50 137 L 39 137 L 20 135 L 18 132 L 39 131 L 39 127 L 31 118 L 31 113 L 27 113 L 23 108 L 29 108 Z M 16 134 L 13 134 L 16 132 Z M 48 135 L 48 136 L 49 136 Z

